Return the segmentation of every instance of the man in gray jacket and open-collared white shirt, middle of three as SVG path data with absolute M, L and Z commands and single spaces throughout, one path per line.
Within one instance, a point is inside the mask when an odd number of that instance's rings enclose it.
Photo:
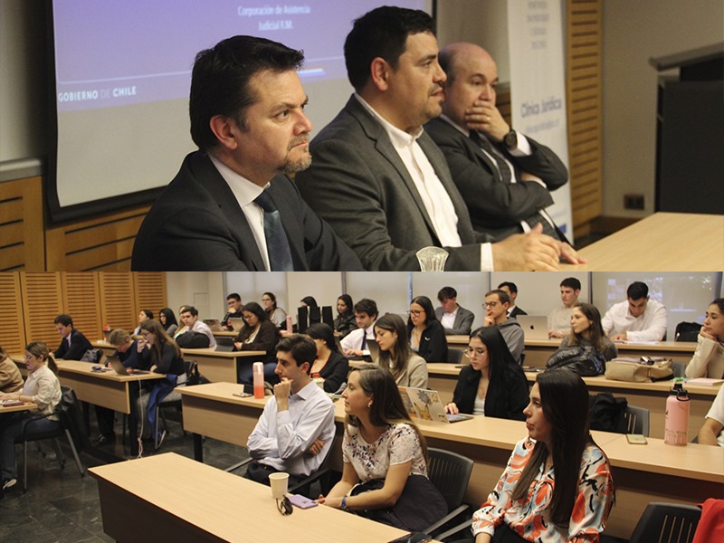
M 356 93 L 314 138 L 302 197 L 357 252 L 367 270 L 419 270 L 415 252 L 450 253 L 451 271 L 557 270 L 560 243 L 539 233 L 500 243 L 481 238 L 442 152 L 424 133 L 442 112 L 445 74 L 433 20 L 379 7 L 355 21 L 345 43 Z

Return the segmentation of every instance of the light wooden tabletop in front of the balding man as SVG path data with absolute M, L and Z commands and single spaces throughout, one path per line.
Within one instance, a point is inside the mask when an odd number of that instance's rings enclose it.
M 579 251 L 564 271 L 724 270 L 724 215 L 655 213 Z

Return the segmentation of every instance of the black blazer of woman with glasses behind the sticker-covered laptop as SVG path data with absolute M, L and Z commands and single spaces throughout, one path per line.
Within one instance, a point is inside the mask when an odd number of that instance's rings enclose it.
M 521 367 L 506 364 L 504 369 L 500 380 L 496 379 L 488 386 L 488 393 L 485 395 L 485 416 L 524 421 L 526 415 L 523 414 L 523 409 L 529 401 L 528 381 Z M 481 372 L 472 366 L 460 370 L 458 383 L 452 393 L 452 402 L 458 406 L 461 413 L 472 414 L 480 382 Z

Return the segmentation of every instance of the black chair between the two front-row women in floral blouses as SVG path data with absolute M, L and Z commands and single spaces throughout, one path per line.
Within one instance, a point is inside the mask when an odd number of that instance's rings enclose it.
M 433 447 L 427 449 L 427 456 L 429 459 L 427 476 L 443 495 L 448 510 L 447 515 L 423 530 L 424 533 L 432 535 L 434 531 L 441 529 L 469 509 L 468 505 L 462 503 L 462 498 L 468 490 L 473 462 L 462 454 Z

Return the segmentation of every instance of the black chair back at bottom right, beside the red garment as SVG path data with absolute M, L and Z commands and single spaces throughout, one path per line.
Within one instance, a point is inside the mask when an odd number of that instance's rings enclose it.
M 696 506 L 653 501 L 643 510 L 629 543 L 690 543 L 700 517 Z

